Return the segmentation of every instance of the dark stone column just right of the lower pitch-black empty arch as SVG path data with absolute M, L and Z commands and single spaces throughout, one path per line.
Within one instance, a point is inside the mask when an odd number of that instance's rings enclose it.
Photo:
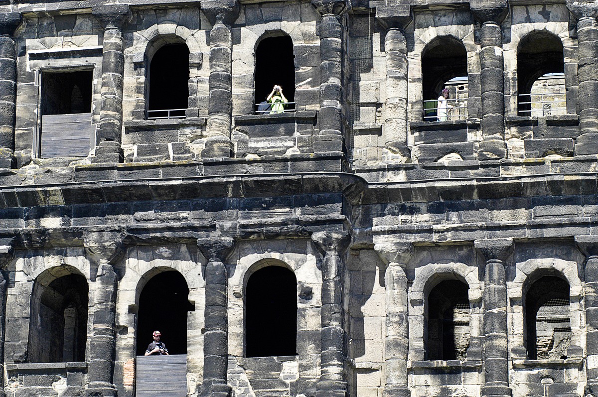
M 312 234 L 322 259 L 322 344 L 321 376 L 316 384 L 316 397 L 345 397 L 347 380 L 344 362 L 347 357 L 343 326 L 343 261 L 341 255 L 349 246 L 346 232 L 320 231 Z

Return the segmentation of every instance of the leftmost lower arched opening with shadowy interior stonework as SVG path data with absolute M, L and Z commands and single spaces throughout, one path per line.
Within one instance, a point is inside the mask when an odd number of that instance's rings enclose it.
M 30 362 L 85 361 L 89 288 L 81 274 L 37 277 L 31 297 Z

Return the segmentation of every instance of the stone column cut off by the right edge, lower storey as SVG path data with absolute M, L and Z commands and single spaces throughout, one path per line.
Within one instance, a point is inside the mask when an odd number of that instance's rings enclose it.
M 584 306 L 585 338 L 587 349 L 586 368 L 588 389 L 598 393 L 598 237 L 576 236 L 575 243 L 585 255 Z

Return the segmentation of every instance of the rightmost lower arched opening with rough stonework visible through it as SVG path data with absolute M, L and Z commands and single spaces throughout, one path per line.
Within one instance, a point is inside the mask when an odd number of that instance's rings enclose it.
M 571 341 L 569 283 L 561 277 L 543 276 L 526 289 L 523 310 L 528 358 L 566 358 Z

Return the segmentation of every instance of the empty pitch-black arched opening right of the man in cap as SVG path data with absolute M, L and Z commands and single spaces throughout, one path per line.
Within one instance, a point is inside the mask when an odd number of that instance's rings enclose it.
M 247 357 L 297 355 L 297 278 L 268 266 L 249 277 L 245 291 Z

